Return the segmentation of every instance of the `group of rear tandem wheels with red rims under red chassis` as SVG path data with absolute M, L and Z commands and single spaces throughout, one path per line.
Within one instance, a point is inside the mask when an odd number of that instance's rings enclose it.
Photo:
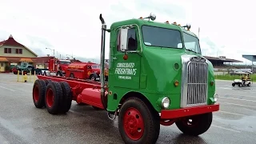
M 50 114 L 66 113 L 72 103 L 70 86 L 67 82 L 37 79 L 33 87 L 33 101 L 34 106 L 45 106 Z

